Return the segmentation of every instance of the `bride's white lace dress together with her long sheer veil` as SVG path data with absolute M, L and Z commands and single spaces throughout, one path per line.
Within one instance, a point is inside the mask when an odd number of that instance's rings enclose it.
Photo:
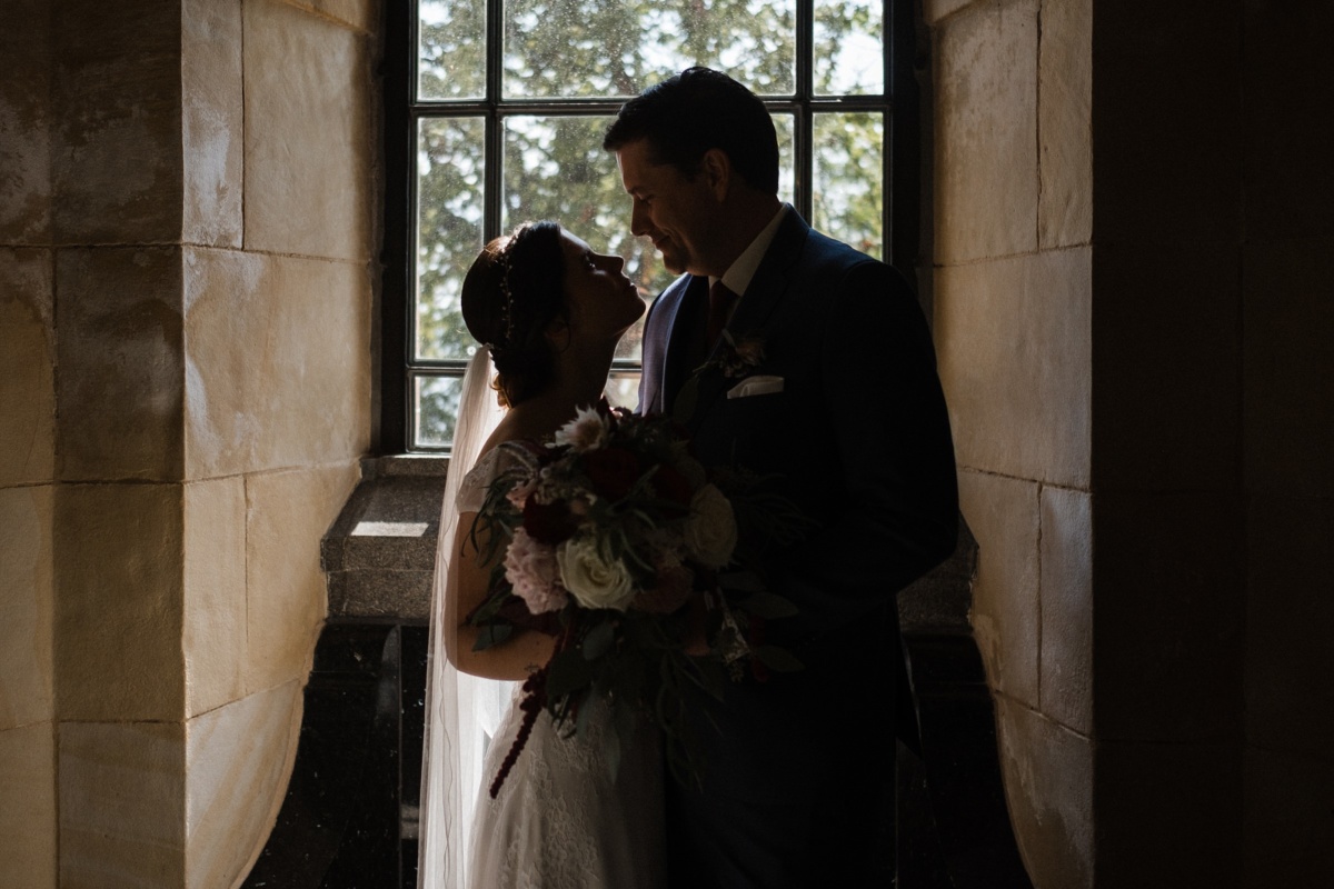
M 499 421 L 488 384 L 483 348 L 464 376 L 451 457 L 472 469 L 448 474 L 439 525 L 418 886 L 662 889 L 663 765 L 650 725 L 618 744 L 610 709 L 591 701 L 579 733 L 563 737 L 543 712 L 498 797 L 490 796 L 523 718 L 518 686 L 459 673 L 442 642 L 458 620 L 446 581 L 459 512 L 480 508 L 504 454 L 514 454 L 496 448 L 478 458 Z

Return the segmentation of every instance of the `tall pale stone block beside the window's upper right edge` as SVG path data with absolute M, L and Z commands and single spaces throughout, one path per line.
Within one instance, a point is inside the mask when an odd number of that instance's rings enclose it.
M 935 48 L 935 259 L 1037 248 L 1038 0 L 978 4 Z

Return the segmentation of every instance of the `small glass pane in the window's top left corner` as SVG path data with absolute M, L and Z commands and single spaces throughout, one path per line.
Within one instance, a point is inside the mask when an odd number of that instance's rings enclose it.
M 486 0 L 420 0 L 418 99 L 486 96 Z

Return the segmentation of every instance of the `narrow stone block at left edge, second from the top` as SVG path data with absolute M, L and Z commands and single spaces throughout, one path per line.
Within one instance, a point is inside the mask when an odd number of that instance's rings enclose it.
M 53 303 L 51 251 L 0 248 L 0 484 L 55 476 Z

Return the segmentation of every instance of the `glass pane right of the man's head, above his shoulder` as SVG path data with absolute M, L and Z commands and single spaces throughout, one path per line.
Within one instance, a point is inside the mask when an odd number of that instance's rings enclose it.
M 815 228 L 875 257 L 884 243 L 884 116 L 816 115 Z

